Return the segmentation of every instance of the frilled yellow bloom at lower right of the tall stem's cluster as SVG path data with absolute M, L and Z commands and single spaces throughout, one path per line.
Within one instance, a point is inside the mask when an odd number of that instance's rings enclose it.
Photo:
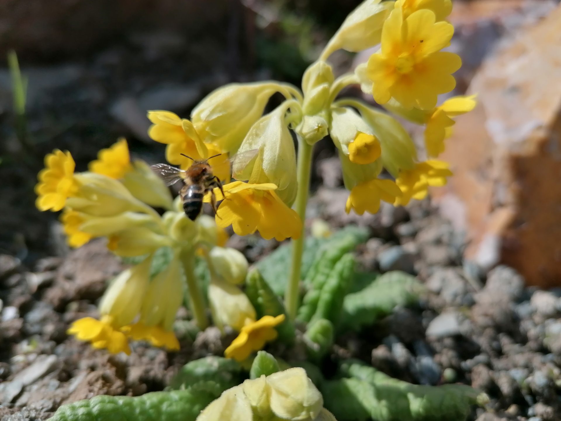
M 402 171 L 396 179 L 396 184 L 402 191 L 402 196 L 396 199 L 396 206 L 404 206 L 411 199 L 424 199 L 429 192 L 429 186 L 444 186 L 447 183 L 446 177 L 451 175 L 448 163 L 436 159 L 420 162 L 413 170 Z

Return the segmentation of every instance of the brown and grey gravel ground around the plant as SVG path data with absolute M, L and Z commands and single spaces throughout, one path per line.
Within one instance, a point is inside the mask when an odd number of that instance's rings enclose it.
M 480 273 L 463 262 L 462 236 L 428 202 L 383 207 L 376 216 L 358 219 L 338 208 L 343 194 L 321 189 L 310 214 L 334 227 L 368 225 L 375 236 L 358 250 L 362 268 L 417 274 L 427 294 L 416 308 L 398 308 L 360 335 L 339 338 L 335 354 L 371 361 L 413 383 L 480 388 L 491 401 L 472 419 L 561 419 L 561 290 L 527 288 L 508 267 Z M 231 242 L 266 252 L 263 240 Z M 47 419 L 61 404 L 103 393 L 162 390 L 188 360 L 223 352 L 231 338 L 209 328 L 194 340 L 185 311 L 178 314 L 179 353 L 136 344 L 131 356 L 111 356 L 68 337 L 69 323 L 96 315 L 105 282 L 121 269 L 102 241 L 64 258 L 38 260 L 33 268 L 0 257 L 1 421 Z

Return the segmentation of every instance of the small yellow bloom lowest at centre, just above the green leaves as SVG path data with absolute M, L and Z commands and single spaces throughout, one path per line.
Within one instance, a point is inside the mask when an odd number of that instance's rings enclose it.
M 265 315 L 256 322 L 242 327 L 240 335 L 224 351 L 226 358 L 243 361 L 254 351 L 263 349 L 266 342 L 274 341 L 278 332 L 275 326 L 284 322 L 284 314 L 277 317 Z

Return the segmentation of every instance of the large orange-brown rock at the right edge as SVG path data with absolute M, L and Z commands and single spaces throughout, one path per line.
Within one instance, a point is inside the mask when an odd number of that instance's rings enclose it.
M 459 117 L 435 190 L 465 228 L 466 258 L 502 262 L 531 285 L 561 285 L 561 6 L 497 51 L 472 80 L 479 106 Z

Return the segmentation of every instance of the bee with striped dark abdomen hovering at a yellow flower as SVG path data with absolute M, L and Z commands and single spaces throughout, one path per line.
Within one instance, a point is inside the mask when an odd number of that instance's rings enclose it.
M 248 150 L 236 154 L 232 159 L 226 162 L 232 164 L 235 161 L 237 166 L 243 166 L 249 163 L 251 159 L 256 156 L 257 152 L 259 152 L 257 149 Z M 217 200 L 213 190 L 215 187 L 218 187 L 222 196 L 224 196 L 224 190 L 222 189 L 222 182 L 214 175 L 213 167 L 210 166 L 208 161 L 222 154 L 213 155 L 204 160 L 193 159 L 183 153 L 181 155 L 193 161 L 187 170 L 181 170 L 180 168 L 172 167 L 168 164 L 154 164 L 151 168 L 162 177 L 167 186 L 171 186 L 180 180 L 183 182 L 179 194 L 183 201 L 183 211 L 185 211 L 187 218 L 191 219 L 191 221 L 195 221 L 197 216 L 201 213 L 201 209 L 203 209 L 203 198 L 205 194 L 209 192 L 210 205 L 214 213 L 216 213 Z

